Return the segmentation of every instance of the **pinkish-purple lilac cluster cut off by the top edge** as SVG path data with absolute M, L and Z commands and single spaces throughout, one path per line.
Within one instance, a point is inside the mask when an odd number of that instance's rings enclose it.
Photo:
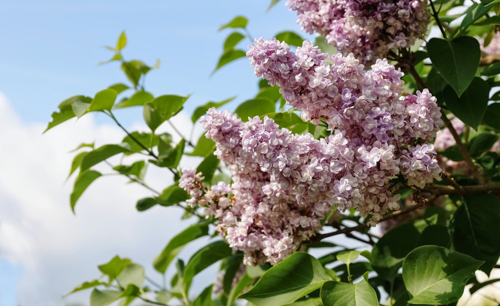
M 325 35 L 342 54 L 362 63 L 408 48 L 427 31 L 426 0 L 288 0 L 297 22 L 308 33 Z

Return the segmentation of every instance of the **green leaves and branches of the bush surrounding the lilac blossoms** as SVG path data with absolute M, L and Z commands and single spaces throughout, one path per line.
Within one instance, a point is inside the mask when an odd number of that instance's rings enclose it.
M 277 2 L 271 0 L 269 8 Z M 391 181 L 395 182 L 394 185 L 387 188 L 401 195 L 399 204 L 402 208 L 383 217 L 384 220 L 392 219 L 396 226 L 387 232 L 380 231 L 380 237 L 373 235 L 355 209 L 346 209 L 343 214 L 332 211 L 325 220 L 321 220 L 321 232 L 310 237 L 310 241 L 296 246 L 297 252 L 274 266 L 268 263 L 256 267 L 243 266 L 240 250 L 232 250 L 224 241 L 208 240 L 216 236 L 214 227 L 227 226 L 213 215 L 205 216 L 205 205 L 208 210 L 220 209 L 214 203 L 207 203 L 211 199 L 216 202 L 218 195 L 211 193 L 211 198 L 206 200 L 194 194 L 187 204 L 191 195 L 179 187 L 179 179 L 184 172 L 181 167 L 189 163 L 196 172 L 201 172 L 203 180 L 198 187 L 204 192 L 219 182 L 227 185 L 246 182 L 241 178 L 232 181 L 233 178 L 228 175 L 230 171 L 214 155 L 215 142 L 207 139 L 205 134 L 192 133 L 190 138 L 194 140 L 186 139 L 176 130 L 177 127 L 172 126 L 176 133 L 174 136 L 179 136 L 175 138 L 179 140 L 173 141 L 169 133 L 157 132 L 165 121 L 184 109 L 189 95 L 154 96 L 146 91 L 144 76 L 157 68 L 159 61 L 154 66 L 148 66 L 138 59 L 126 60 L 122 52 L 127 45 L 127 37 L 124 31 L 121 32 L 115 46 L 107 48 L 113 52 L 109 61 L 119 62 L 128 82 L 103 86 L 104 89 L 93 97 L 78 95 L 62 101 L 44 131 L 68 119 L 100 112 L 124 132 L 121 141 L 116 143 L 98 147 L 93 143 L 82 144 L 75 149 L 78 153 L 74 153 L 69 176 L 75 172 L 78 175 L 70 195 L 71 209 L 74 212 L 76 202 L 93 181 L 103 175 L 115 174 L 127 177 L 130 183 L 140 184 L 150 192 L 138 201 L 130 201 L 135 202 L 138 211 L 152 207 L 158 210 L 180 208 L 184 211 L 182 219 L 189 219 L 192 225 L 179 233 L 173 232 L 173 238 L 153 261 L 155 271 L 163 277 L 168 269 L 172 272 L 174 269 L 171 267 L 175 267 L 175 274 L 168 284 L 164 281 L 163 285 L 153 284 L 150 288 L 150 284 L 146 283 L 150 279 L 146 278 L 143 266 L 116 256 L 98 266 L 102 273 L 100 278 L 83 282 L 70 293 L 91 289 L 91 306 L 111 303 L 125 306 L 136 299 L 157 305 L 168 305 L 175 300 L 172 305 L 192 306 L 232 306 L 237 299 L 248 301 L 248 306 L 454 305 L 462 295 L 465 284 L 471 284 L 470 292 L 474 293 L 493 283 L 495 280 L 478 283 L 473 275 L 477 270 L 489 274 L 500 257 L 500 245 L 497 243 L 500 236 L 500 187 L 497 185 L 500 182 L 500 152 L 491 151 L 500 136 L 500 103 L 491 101 L 500 101 L 500 92 L 491 97 L 489 94 L 491 88 L 500 86 L 500 64 L 496 58 L 493 62 L 481 58 L 479 43 L 474 36 L 483 35 L 487 44 L 492 40 L 500 18 L 496 11 L 498 5 L 489 5 L 487 1 L 472 3 L 456 15 L 448 14 L 450 9 L 462 2 L 433 2 L 439 7 L 435 12 L 439 20 L 434 19 L 433 22 L 441 25 L 448 37 L 431 38 L 420 48 L 413 46 L 389 54 L 392 64 L 406 74 L 405 91 L 429 88 L 449 118 L 457 117 L 464 122 L 464 131 L 454 139 L 458 144 L 438 152 L 442 157 L 459 162 L 459 167 L 450 170 L 448 168 L 452 166 L 447 166 L 444 171 L 453 173 L 443 175 L 441 181 L 424 188 L 406 186 L 401 178 L 394 177 Z M 434 8 L 429 9 L 432 11 Z M 459 16 L 463 16 L 459 24 L 452 22 Z M 239 46 L 244 39 L 253 39 L 247 26 L 248 20 L 243 16 L 236 16 L 220 26 L 219 30 L 230 30 L 223 42 L 221 56 L 214 60 L 214 71 L 245 57 L 246 49 Z M 299 34 L 287 30 L 275 37 L 294 46 L 301 46 L 303 42 Z M 324 36 L 318 36 L 315 43 L 323 52 L 336 52 Z M 331 60 L 329 63 L 334 65 Z M 209 108 L 227 106 L 234 98 L 195 106 L 191 122 L 195 124 Z M 267 116 L 291 133 L 308 132 L 316 139 L 330 135 L 321 118 L 318 126 L 304 122 L 296 109 L 285 105 L 280 88 L 268 85 L 266 79 L 258 82 L 253 97 L 242 100 L 234 105 L 234 113 L 242 121 Z M 133 106 L 142 106 L 142 118 L 149 132 L 128 131 L 113 113 L 116 109 Z M 418 139 L 417 143 L 425 143 L 420 141 Z M 401 144 L 396 151 L 405 149 L 407 145 Z M 359 159 L 356 154 L 352 158 Z M 186 155 L 187 158 L 183 158 Z M 171 179 L 166 185 L 168 187 L 163 186 L 156 191 L 147 184 L 149 163 L 160 167 L 156 170 L 164 171 L 167 181 Z M 106 165 L 109 166 L 107 171 L 101 169 Z M 94 170 L 97 167 L 99 171 Z M 317 192 L 322 191 L 318 189 Z M 239 201 L 238 197 L 246 195 L 230 196 Z M 414 204 L 412 202 L 421 209 L 414 209 L 416 207 L 410 205 Z M 237 207 L 232 205 L 229 209 Z M 258 209 L 258 200 L 255 200 L 255 208 Z M 308 212 L 304 210 L 300 214 L 300 217 L 307 216 Z M 407 219 L 397 220 L 398 215 Z M 250 227 L 259 226 L 261 221 L 256 216 Z M 238 221 L 242 218 L 237 211 L 234 217 Z M 347 227 L 347 224 L 352 226 Z M 244 233 L 251 231 L 250 227 L 239 230 Z M 168 230 L 177 231 L 171 227 Z M 298 235 L 291 234 L 290 237 Z M 345 234 L 342 239 L 354 239 L 363 243 L 364 247 L 352 250 L 342 247 L 347 245 L 342 240 L 324 240 L 337 234 Z M 207 241 L 198 240 L 205 236 Z M 184 264 L 182 256 L 179 257 L 180 252 L 195 240 L 198 251 Z M 319 254 L 311 251 L 318 248 L 321 248 L 320 257 L 307 253 Z M 217 263 L 222 274 L 219 279 L 221 284 L 205 284 L 201 292 L 199 288 L 191 290 L 193 279 Z M 217 291 L 217 287 L 221 290 Z M 388 300 L 381 300 L 381 297 Z

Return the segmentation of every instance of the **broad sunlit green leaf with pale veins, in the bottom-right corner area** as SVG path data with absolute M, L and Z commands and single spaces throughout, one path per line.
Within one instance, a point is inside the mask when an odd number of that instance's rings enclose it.
M 457 301 L 481 264 L 470 256 L 443 247 L 416 248 L 403 262 L 408 303 L 445 305 Z

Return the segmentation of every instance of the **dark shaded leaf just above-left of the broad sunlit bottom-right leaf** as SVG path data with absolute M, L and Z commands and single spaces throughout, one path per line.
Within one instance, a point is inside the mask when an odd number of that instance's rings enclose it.
M 402 224 L 377 241 L 371 251 L 371 264 L 380 278 L 391 280 L 397 274 L 404 258 L 415 248 L 421 233 L 431 223 L 422 219 Z

